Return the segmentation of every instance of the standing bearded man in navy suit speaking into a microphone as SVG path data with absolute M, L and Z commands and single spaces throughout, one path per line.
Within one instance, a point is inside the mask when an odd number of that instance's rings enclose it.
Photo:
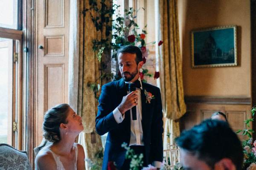
M 125 159 L 127 143 L 136 154 L 143 153 L 143 166 L 153 164 L 160 168 L 163 161 L 163 113 L 160 89 L 144 83 L 139 70 L 143 65 L 142 52 L 134 45 L 127 45 L 117 51 L 122 79 L 102 86 L 99 97 L 96 131 L 99 135 L 108 133 L 103 158 L 103 170 L 108 162 L 128 170 L 131 160 Z M 135 83 L 136 91 L 127 89 Z M 135 107 L 136 120 L 132 118 Z

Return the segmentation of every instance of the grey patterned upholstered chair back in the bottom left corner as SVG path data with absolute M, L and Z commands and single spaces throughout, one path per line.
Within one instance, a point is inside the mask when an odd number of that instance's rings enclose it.
M 31 170 L 26 151 L 20 151 L 9 144 L 0 144 L 0 170 Z

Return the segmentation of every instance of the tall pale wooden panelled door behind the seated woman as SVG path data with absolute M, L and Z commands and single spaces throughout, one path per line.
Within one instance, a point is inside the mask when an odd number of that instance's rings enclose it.
M 44 113 L 68 102 L 69 0 L 36 1 L 36 145 L 42 140 Z

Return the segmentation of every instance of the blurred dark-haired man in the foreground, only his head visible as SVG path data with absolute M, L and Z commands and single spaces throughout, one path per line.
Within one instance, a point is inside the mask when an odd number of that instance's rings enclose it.
M 175 139 L 185 170 L 241 170 L 242 145 L 227 122 L 207 119 Z

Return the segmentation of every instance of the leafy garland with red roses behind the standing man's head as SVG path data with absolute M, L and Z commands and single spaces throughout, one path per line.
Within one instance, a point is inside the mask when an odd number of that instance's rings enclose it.
M 146 26 L 142 29 L 142 33 L 138 34 L 137 23 L 134 21 L 136 16 L 134 15 L 135 10 L 133 8 L 129 8 L 129 10 L 125 10 L 125 17 L 119 14 L 119 7 L 116 4 L 113 4 L 113 8 L 109 8 L 105 0 L 101 0 L 100 4 L 96 2 L 96 0 L 90 0 L 90 8 L 87 8 L 83 11 L 85 16 L 86 13 L 89 12 L 91 16 L 91 20 L 96 27 L 96 31 L 99 31 L 100 34 L 105 34 L 105 39 L 96 38 L 92 41 L 93 43 L 93 51 L 97 52 L 96 57 L 99 62 L 101 62 L 102 54 L 105 51 L 112 50 L 112 58 L 117 59 L 116 51 L 124 45 L 137 45 L 143 53 L 143 62 L 146 63 L 148 57 L 148 49 L 146 47 L 145 38 L 147 32 L 145 31 Z M 96 13 L 96 16 L 93 16 L 92 13 Z M 116 14 L 116 20 L 111 20 L 113 14 Z M 112 21 L 112 27 L 110 26 L 110 22 Z M 105 29 L 104 29 L 105 28 Z M 112 31 L 112 34 L 111 34 Z M 112 40 L 112 42 L 110 41 Z M 155 42 L 150 42 L 148 44 L 154 44 Z M 158 45 L 162 45 L 163 41 L 159 41 Z M 104 63 L 103 63 L 104 65 Z M 102 76 L 99 79 L 120 79 L 121 74 L 118 72 L 114 76 L 113 73 L 105 73 L 104 68 L 100 68 L 102 71 Z M 148 73 L 148 69 L 142 68 L 140 71 L 140 77 L 143 82 L 146 82 L 145 76 L 153 77 L 153 74 Z M 160 77 L 160 73 L 158 71 L 154 72 L 154 79 Z M 98 80 L 98 79 L 97 79 Z M 97 82 L 88 82 L 87 84 L 95 94 L 99 91 L 100 85 Z

